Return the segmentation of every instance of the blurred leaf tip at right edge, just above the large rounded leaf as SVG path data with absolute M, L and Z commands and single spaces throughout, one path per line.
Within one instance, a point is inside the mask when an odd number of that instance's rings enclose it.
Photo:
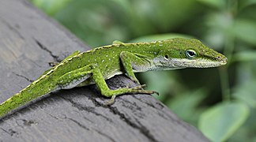
M 256 80 L 247 82 L 246 84 L 239 85 L 235 88 L 233 96 L 237 99 L 241 99 L 251 107 L 256 108 Z

